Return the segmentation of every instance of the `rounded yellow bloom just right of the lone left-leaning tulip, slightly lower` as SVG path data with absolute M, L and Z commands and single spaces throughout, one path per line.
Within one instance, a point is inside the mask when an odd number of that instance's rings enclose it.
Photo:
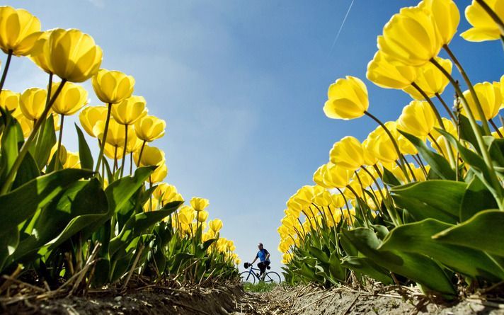
M 427 102 L 411 101 L 403 108 L 399 116 L 398 128 L 420 139 L 424 139 L 433 131 L 436 116 Z

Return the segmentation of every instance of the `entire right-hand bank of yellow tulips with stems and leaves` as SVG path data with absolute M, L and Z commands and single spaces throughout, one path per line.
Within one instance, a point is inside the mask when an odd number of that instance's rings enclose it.
M 467 45 L 504 43 L 503 4 L 472 1 Z M 470 81 L 449 47 L 459 21 L 455 1 L 423 0 L 384 25 L 366 77 L 411 96 L 397 120 L 380 120 L 362 79 L 329 86 L 328 118 L 376 129 L 338 140 L 315 185 L 287 201 L 278 228 L 287 282 L 413 286 L 445 300 L 502 285 L 504 76 Z M 443 93 L 449 84 L 455 97 Z

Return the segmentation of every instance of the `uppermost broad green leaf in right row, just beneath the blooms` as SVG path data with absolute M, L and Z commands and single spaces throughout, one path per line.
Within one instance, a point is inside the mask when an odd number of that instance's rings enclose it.
M 417 220 L 431 217 L 455 223 L 466 187 L 463 182 L 432 180 L 397 186 L 391 193 L 396 205 Z

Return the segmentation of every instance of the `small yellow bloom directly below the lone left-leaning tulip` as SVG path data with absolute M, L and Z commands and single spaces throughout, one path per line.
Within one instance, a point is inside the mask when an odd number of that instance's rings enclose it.
M 333 145 L 329 159 L 333 164 L 355 171 L 364 164 L 362 144 L 355 137 L 344 137 Z

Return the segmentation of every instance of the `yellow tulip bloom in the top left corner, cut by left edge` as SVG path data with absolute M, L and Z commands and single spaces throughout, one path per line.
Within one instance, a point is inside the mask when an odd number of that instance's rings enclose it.
M 26 56 L 40 36 L 40 21 L 23 8 L 0 6 L 0 48 Z

